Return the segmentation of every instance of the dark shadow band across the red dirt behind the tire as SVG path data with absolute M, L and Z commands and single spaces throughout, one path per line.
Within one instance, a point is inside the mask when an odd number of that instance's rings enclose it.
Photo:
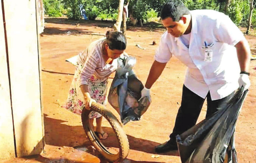
M 79 146 L 85 147 L 86 152 L 100 158 L 99 153 L 93 150 L 91 142 L 87 139 L 82 124 L 81 126 L 69 126 L 64 124 L 65 122 L 67 121 L 47 117 L 47 115 L 44 114 L 46 144 L 53 146 L 70 146 L 75 148 Z M 109 137 L 106 140 L 102 140 L 102 143 L 104 143 L 106 147 L 118 148 L 118 144 L 115 143 L 115 135 L 111 134 L 113 130 L 109 127 L 104 127 L 103 129 L 105 132 L 109 133 Z M 130 150 L 157 154 L 154 152 L 154 148 L 160 143 L 135 138 L 132 135 L 127 135 L 127 137 L 130 144 Z M 178 156 L 179 154 L 177 151 L 173 151 L 161 155 Z M 103 158 L 100 159 L 104 160 Z

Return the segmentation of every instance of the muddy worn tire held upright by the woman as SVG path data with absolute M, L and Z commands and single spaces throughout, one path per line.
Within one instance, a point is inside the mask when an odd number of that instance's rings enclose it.
M 93 127 L 89 124 L 89 113 L 91 111 L 99 112 L 103 117 L 107 119 L 113 128 L 119 144 L 119 152 L 117 154 L 112 154 L 109 152 L 94 133 Z M 115 115 L 113 115 L 110 110 L 106 109 L 106 107 L 102 104 L 93 102 L 91 105 L 91 110 L 84 109 L 82 111 L 81 118 L 84 131 L 90 142 L 93 144 L 96 150 L 99 151 L 107 160 L 111 162 L 121 162 L 127 157 L 129 152 L 129 142 L 127 135 L 125 134 L 120 121 L 116 118 Z

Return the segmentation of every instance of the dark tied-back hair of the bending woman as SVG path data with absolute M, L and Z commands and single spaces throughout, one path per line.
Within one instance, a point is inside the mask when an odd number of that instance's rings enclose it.
M 111 50 L 125 50 L 126 37 L 122 32 L 107 31 L 106 38 L 106 43 Z

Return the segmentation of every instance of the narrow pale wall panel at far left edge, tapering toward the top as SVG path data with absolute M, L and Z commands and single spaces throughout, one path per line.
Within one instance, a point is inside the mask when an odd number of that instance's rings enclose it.
M 0 11 L 0 158 L 6 159 L 15 157 L 15 146 L 1 1 Z

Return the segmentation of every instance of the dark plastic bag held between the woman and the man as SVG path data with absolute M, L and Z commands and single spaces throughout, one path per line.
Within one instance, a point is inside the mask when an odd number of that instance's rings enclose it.
M 139 121 L 150 105 L 147 97 L 139 101 L 144 86 L 132 70 L 135 63 L 136 59 L 131 56 L 117 59 L 116 75 L 108 94 L 108 102 L 119 113 L 123 124 Z

